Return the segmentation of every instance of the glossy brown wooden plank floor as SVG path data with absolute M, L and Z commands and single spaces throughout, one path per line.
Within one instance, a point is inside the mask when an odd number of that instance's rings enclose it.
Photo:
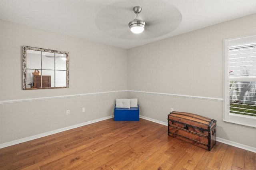
M 0 169 L 256 170 L 256 153 L 220 142 L 209 152 L 144 119 L 113 119 L 0 149 Z

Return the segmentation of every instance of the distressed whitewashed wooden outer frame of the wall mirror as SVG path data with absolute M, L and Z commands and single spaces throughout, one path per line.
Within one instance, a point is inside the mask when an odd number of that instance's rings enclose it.
M 23 90 L 34 90 L 34 89 L 60 89 L 60 88 L 68 88 L 69 87 L 69 52 L 66 51 L 58 51 L 53 49 L 44 49 L 44 48 L 37 48 L 37 47 L 29 47 L 29 46 L 22 46 L 23 54 L 22 54 L 22 89 Z M 26 73 L 27 73 L 27 50 L 35 50 L 35 51 L 42 51 L 42 52 L 50 52 L 50 53 L 59 53 L 59 54 L 66 54 L 66 86 L 63 87 L 42 87 L 42 88 L 26 88 Z

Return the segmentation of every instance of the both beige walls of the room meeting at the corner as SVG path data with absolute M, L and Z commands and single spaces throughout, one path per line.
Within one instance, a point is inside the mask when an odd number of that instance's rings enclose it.
M 0 144 L 111 116 L 116 98 L 135 97 L 142 116 L 167 122 L 170 108 L 204 115 L 217 120 L 219 138 L 256 147 L 256 128 L 222 121 L 222 41 L 255 34 L 255 19 L 256 14 L 128 50 L 0 20 Z M 70 87 L 22 90 L 22 45 L 69 51 Z M 3 103 L 126 89 L 156 94 L 116 92 Z

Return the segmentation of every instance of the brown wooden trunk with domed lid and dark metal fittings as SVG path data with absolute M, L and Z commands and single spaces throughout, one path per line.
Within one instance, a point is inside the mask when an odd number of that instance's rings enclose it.
M 216 120 L 174 111 L 168 115 L 168 135 L 210 151 L 216 143 Z

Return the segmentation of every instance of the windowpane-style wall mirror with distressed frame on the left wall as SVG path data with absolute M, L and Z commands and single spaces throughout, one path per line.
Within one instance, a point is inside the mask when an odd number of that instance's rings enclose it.
M 69 53 L 23 46 L 23 89 L 68 87 Z

